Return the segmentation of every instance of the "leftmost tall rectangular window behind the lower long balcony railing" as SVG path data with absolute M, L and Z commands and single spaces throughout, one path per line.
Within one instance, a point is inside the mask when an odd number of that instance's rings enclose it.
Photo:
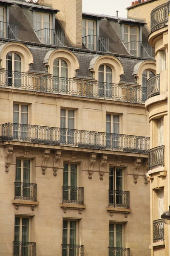
M 13 137 L 26 139 L 28 137 L 28 105 L 13 105 Z

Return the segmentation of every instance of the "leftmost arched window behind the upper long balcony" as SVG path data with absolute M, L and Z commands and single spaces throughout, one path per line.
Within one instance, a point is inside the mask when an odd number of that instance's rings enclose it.
M 6 55 L 6 83 L 8 86 L 21 86 L 21 57 L 15 52 Z

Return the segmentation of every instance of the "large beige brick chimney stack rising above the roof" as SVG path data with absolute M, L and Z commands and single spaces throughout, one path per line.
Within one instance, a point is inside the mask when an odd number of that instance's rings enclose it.
M 58 9 L 56 17 L 74 47 L 82 47 L 82 0 L 44 0 L 43 5 Z

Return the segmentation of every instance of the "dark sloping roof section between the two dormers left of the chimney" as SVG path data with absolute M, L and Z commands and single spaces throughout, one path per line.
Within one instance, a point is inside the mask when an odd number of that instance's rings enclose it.
M 9 8 L 9 22 L 18 24 L 19 40 L 40 43 L 26 15 L 19 6 L 12 5 Z

